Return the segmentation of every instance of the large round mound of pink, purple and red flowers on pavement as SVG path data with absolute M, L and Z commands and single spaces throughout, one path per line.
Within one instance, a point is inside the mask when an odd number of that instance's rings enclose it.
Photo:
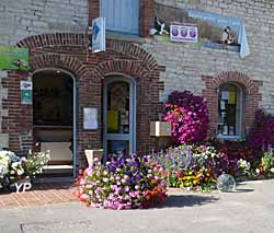
M 163 168 L 149 156 L 113 158 L 105 166 L 94 161 L 79 184 L 79 199 L 98 208 L 148 208 L 167 197 Z

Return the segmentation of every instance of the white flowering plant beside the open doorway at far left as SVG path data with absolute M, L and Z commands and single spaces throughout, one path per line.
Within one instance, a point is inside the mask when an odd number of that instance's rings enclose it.
M 18 180 L 41 173 L 48 160 L 48 152 L 19 158 L 14 152 L 0 151 L 0 189 L 8 189 Z

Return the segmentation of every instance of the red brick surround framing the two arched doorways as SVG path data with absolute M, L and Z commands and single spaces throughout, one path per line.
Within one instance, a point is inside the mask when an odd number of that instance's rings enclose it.
M 78 116 L 77 116 L 77 150 L 78 165 L 85 166 L 83 151 L 87 148 L 102 148 L 102 85 L 105 75 L 121 73 L 133 77 L 137 82 L 137 150 L 148 152 L 158 147 L 158 140 L 149 136 L 149 123 L 158 119 L 161 110 L 159 91 L 163 90 L 163 83 L 159 81 L 164 67 L 142 48 L 130 43 L 107 40 L 106 51 L 92 54 L 87 50 L 88 40 L 83 34 L 50 34 L 31 36 L 18 44 L 31 49 L 32 72 L 43 68 L 62 68 L 76 78 L 78 90 Z M 10 74 L 12 78 L 12 74 Z M 19 104 L 19 80 L 16 75 L 9 83 L 4 83 L 9 90 L 13 90 L 16 98 L 9 95 L 7 105 L 14 105 L 13 121 L 7 121 L 16 128 L 19 114 L 25 106 Z M 100 128 L 98 130 L 82 129 L 82 109 L 84 106 L 99 108 Z M 13 108 L 12 108 L 13 109 Z M 24 115 L 28 121 L 27 131 L 32 130 L 32 107 Z M 23 129 L 23 126 L 21 127 Z M 9 129 L 7 128 L 7 131 Z M 19 132 L 16 132 L 19 133 Z M 20 151 L 18 135 L 11 135 L 12 149 Z M 24 139 L 23 139 L 24 141 Z M 23 142 L 24 143 L 24 142 Z M 30 145 L 30 142 L 27 142 Z M 31 147 L 31 145 L 30 145 Z

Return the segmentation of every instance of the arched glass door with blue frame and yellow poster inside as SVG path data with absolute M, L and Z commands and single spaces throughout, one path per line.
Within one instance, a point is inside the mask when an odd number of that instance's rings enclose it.
M 104 83 L 104 152 L 128 155 L 136 150 L 135 82 L 107 77 Z

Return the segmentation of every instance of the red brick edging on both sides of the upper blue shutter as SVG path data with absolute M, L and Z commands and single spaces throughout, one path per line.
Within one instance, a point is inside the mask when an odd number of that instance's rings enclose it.
M 153 13 L 155 0 L 140 0 L 140 36 L 149 36 L 149 30 L 153 26 L 155 13 Z M 100 0 L 90 0 L 89 5 L 89 21 L 100 16 Z

